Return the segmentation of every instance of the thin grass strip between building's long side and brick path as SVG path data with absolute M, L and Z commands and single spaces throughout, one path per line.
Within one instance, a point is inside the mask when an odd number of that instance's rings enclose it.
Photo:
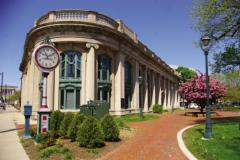
M 118 122 L 119 120 L 124 122 L 142 122 L 159 118 L 156 114 L 144 114 L 143 118 L 139 116 L 139 114 L 125 115 L 121 117 L 116 117 L 115 120 Z

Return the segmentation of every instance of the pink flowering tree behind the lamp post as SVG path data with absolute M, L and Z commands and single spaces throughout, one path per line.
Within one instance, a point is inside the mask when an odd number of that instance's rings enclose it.
M 189 81 L 182 83 L 178 89 L 181 96 L 187 102 L 194 102 L 201 107 L 201 112 L 206 106 L 206 82 L 205 76 L 195 76 Z M 218 80 L 209 79 L 209 102 L 210 104 L 216 103 L 217 99 L 225 95 L 225 86 Z

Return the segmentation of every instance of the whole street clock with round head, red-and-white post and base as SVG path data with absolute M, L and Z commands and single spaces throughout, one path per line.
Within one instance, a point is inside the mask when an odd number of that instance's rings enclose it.
M 35 48 L 32 54 L 35 64 L 42 71 L 43 76 L 43 93 L 42 102 L 38 111 L 37 121 L 37 137 L 40 133 L 46 133 L 50 129 L 50 114 L 51 110 L 47 105 L 47 78 L 50 72 L 58 66 L 60 56 L 58 50 L 51 44 L 42 44 Z

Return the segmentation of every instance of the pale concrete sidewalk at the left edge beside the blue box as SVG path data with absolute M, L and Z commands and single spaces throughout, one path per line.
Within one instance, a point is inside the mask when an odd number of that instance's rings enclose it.
M 14 119 L 22 119 L 13 107 L 0 111 L 0 160 L 28 160 L 17 135 Z

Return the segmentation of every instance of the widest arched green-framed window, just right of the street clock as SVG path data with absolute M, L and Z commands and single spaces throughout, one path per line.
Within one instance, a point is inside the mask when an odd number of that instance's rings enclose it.
M 61 109 L 77 109 L 80 106 L 81 54 L 68 51 L 61 54 L 59 104 Z

